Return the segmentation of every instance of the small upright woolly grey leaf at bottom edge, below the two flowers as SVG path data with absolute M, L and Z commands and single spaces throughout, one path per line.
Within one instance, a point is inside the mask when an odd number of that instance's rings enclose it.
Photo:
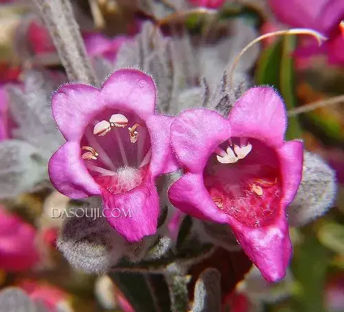
M 221 311 L 221 274 L 217 269 L 204 270 L 195 285 L 192 312 Z

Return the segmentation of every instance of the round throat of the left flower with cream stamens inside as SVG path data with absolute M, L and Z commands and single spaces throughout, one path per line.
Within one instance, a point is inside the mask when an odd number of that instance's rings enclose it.
M 80 150 L 89 173 L 113 194 L 139 186 L 151 160 L 146 124 L 134 113 L 110 109 L 89 123 Z

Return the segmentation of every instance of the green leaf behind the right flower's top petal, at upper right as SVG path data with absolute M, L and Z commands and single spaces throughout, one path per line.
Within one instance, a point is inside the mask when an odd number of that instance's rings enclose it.
M 292 59 L 295 46 L 296 38 L 292 36 L 286 36 L 286 38 L 269 45 L 261 53 L 255 74 L 257 85 L 270 85 L 281 93 L 287 110 L 294 108 L 297 102 Z M 298 118 L 289 118 L 286 139 L 292 140 L 301 137 L 301 134 Z

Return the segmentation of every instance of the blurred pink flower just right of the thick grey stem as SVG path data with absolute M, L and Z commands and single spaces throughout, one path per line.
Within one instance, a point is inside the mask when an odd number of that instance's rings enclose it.
M 84 34 L 83 35 L 87 53 L 94 58 L 95 56 L 103 56 L 114 63 L 118 50 L 122 43 L 130 40 L 128 36 L 116 36 L 107 38 L 102 34 Z

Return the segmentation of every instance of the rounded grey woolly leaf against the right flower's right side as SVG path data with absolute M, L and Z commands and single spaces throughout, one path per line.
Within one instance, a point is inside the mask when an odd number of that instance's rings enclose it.
M 336 198 L 335 172 L 319 155 L 305 151 L 302 180 L 289 209 L 291 225 L 303 225 L 332 207 Z

